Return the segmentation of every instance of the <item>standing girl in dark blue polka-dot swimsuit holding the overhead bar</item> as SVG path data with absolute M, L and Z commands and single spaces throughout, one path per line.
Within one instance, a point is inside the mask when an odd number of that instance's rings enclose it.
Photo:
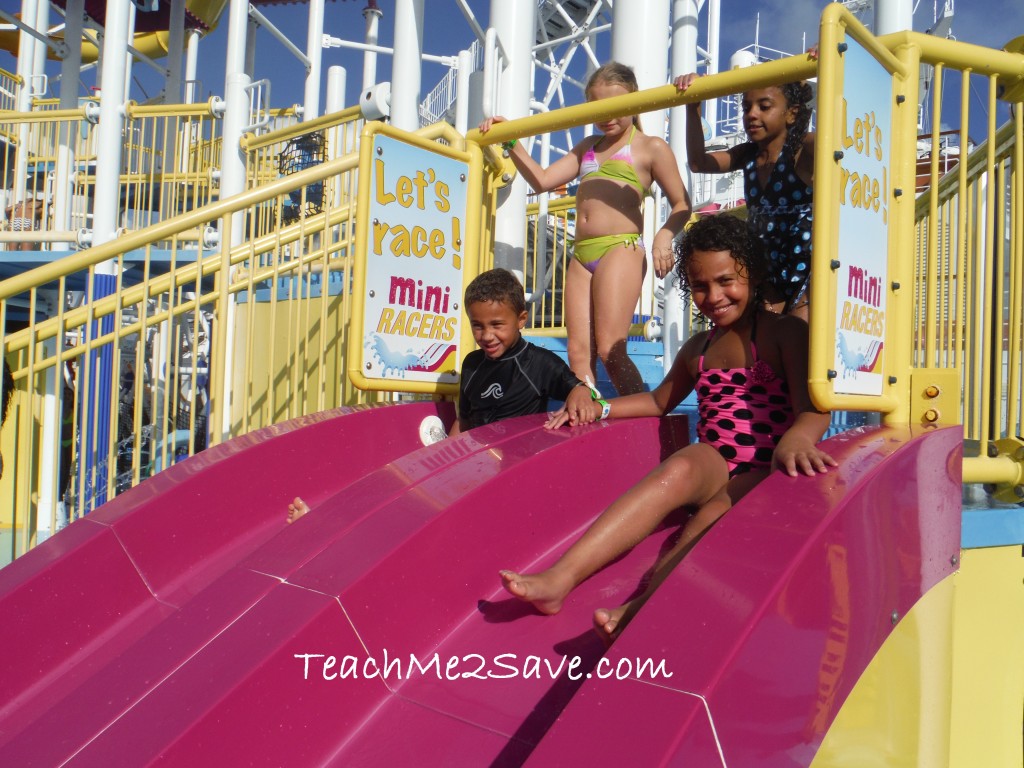
M 813 55 L 813 54 L 812 54 Z M 696 79 L 685 75 L 676 87 Z M 772 264 L 765 304 L 776 312 L 807 318 L 811 272 L 811 203 L 814 134 L 807 83 L 755 88 L 743 93 L 743 127 L 750 141 L 724 152 L 708 152 L 700 124 L 700 102 L 686 112 L 686 154 L 694 173 L 742 171 L 748 223 Z

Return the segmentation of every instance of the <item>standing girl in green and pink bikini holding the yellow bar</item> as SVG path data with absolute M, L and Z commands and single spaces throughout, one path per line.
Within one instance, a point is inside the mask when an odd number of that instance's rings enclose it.
M 587 83 L 587 100 L 622 96 L 638 89 L 630 68 L 611 61 L 597 70 Z M 480 124 L 486 133 L 495 117 Z M 509 156 L 536 191 L 548 191 L 580 178 L 577 189 L 574 258 L 565 278 L 565 326 L 568 332 L 569 368 L 581 379 L 596 378 L 594 351 L 618 394 L 643 389 L 643 380 L 626 351 L 626 339 L 647 259 L 640 232 L 643 199 L 657 182 L 672 206 L 665 225 L 657 230 L 651 260 L 658 278 L 673 266 L 673 239 L 690 216 L 690 199 L 679 175 L 672 150 L 664 139 L 648 136 L 636 117 L 614 118 L 595 126 L 572 150 L 542 168 L 519 143 Z

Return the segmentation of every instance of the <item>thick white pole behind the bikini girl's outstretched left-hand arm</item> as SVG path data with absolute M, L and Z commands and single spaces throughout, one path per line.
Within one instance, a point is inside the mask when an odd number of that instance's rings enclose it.
M 502 47 L 509 56 L 499 79 L 497 101 L 498 113 L 506 118 L 529 115 L 534 92 L 530 51 L 537 29 L 536 14 L 534 0 L 490 0 L 490 26 L 501 30 Z M 521 271 L 526 244 L 528 186 L 522 176 L 516 174 L 506 190 L 495 219 L 495 266 Z

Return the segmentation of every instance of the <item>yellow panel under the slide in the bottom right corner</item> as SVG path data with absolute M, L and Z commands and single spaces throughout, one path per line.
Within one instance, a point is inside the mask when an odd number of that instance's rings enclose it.
M 1020 765 L 1024 559 L 964 550 L 847 696 L 811 768 Z

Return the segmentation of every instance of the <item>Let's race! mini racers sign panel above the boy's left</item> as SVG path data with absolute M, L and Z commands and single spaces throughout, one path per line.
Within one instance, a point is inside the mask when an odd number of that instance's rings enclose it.
M 360 174 L 367 171 L 362 164 Z M 359 230 L 366 263 L 358 371 L 370 381 L 357 386 L 422 391 L 410 383 L 457 384 L 468 177 L 467 163 L 374 135 Z

